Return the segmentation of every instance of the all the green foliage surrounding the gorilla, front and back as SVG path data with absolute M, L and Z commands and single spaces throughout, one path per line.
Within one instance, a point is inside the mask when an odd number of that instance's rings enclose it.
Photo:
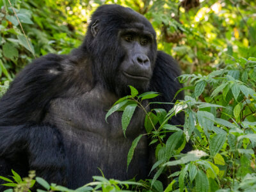
M 48 52 L 65 54 L 79 46 L 90 14 L 103 3 L 122 4 L 145 15 L 157 31 L 158 48 L 172 54 L 184 71 L 180 81 L 184 83 L 185 99 L 171 111 L 145 111 L 150 144 L 158 143 L 157 161 L 152 168 L 154 178 L 135 183 L 94 177 L 95 182 L 76 191 L 256 191 L 255 1 L 12 0 L 10 3 L 0 2 L 0 95 L 20 68 L 33 58 Z M 125 133 L 134 109 L 142 108 L 143 99 L 157 95 L 152 92 L 138 95 L 131 87 L 131 95 L 118 100 L 106 117 L 124 110 Z M 183 130 L 168 124 L 180 111 L 186 114 Z M 167 132 L 173 134 L 164 143 Z M 127 166 L 140 137 L 134 140 L 127 154 Z M 189 140 L 194 150 L 180 154 Z M 175 159 L 170 161 L 171 157 Z M 172 173 L 172 165 L 179 165 L 181 170 Z M 170 175 L 170 184 L 165 189 L 157 180 L 162 172 Z M 13 171 L 11 179 L 1 179 L 16 191 L 28 191 L 35 182 L 46 191 L 72 191 L 49 185 L 38 177 L 35 181 L 34 177 L 31 172 L 22 180 Z

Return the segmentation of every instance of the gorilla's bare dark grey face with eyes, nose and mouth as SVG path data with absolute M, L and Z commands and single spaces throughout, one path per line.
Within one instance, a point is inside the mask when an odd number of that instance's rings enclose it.
M 119 31 L 120 47 L 124 51 L 116 84 L 134 86 L 141 92 L 147 90 L 152 77 L 154 61 L 150 53 L 154 36 L 145 30 L 129 28 Z

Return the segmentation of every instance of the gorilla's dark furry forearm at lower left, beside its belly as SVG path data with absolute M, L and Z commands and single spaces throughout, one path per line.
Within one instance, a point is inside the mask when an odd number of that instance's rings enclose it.
M 0 175 L 12 175 L 11 169 L 21 177 L 29 170 L 44 179 L 65 184 L 65 151 L 60 132 L 51 125 L 17 125 L 0 127 Z M 0 180 L 0 184 L 4 183 Z M 0 186 L 0 191 L 4 187 Z

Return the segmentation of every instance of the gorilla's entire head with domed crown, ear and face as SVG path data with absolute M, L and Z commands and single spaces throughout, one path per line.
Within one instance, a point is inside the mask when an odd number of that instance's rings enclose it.
M 82 45 L 90 52 L 95 76 L 119 96 L 132 85 L 148 88 L 157 54 L 156 32 L 148 20 L 116 4 L 100 6 L 92 15 Z

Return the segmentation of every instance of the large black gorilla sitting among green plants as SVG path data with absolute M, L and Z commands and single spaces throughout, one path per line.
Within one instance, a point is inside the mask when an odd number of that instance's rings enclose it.
M 147 178 L 152 158 L 146 136 L 126 170 L 132 141 L 145 133 L 143 111 L 136 109 L 126 138 L 122 113 L 113 113 L 108 123 L 105 116 L 130 93 L 129 85 L 140 93 L 162 93 L 157 101 L 172 101 L 179 74 L 173 58 L 157 51 L 156 32 L 145 17 L 116 4 L 100 6 L 79 48 L 36 59 L 0 100 L 0 175 L 13 169 L 25 177 L 36 170 L 37 176 L 68 188 L 92 181 L 101 175 L 98 168 L 107 178 Z M 183 124 L 184 118 L 176 116 L 171 123 Z

